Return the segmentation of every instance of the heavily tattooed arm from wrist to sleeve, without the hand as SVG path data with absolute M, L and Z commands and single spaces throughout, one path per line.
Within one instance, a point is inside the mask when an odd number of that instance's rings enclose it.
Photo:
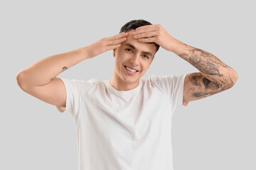
M 206 98 L 234 86 L 238 73 L 218 57 L 196 47 L 179 42 L 176 55 L 192 64 L 200 72 L 188 74 L 184 82 L 183 103 Z

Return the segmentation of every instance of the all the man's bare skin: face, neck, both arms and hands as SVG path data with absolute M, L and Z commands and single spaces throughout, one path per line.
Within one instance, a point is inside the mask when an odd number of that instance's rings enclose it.
M 238 73 L 221 62 L 218 57 L 176 40 L 157 24 L 142 26 L 128 33 L 102 38 L 77 50 L 46 57 L 18 72 L 17 83 L 28 94 L 55 106 L 65 107 L 65 93 L 63 93 L 65 87 L 56 76 L 83 60 L 113 50 L 114 72 L 110 84 L 119 91 L 131 90 L 138 86 L 139 79 L 154 60 L 154 57 L 148 59 L 145 55 L 149 53 L 155 55 L 156 47 L 149 42 L 155 42 L 163 49 L 174 52 L 198 69 L 199 72 L 187 74 L 185 78 L 184 106 L 189 101 L 196 101 L 230 89 L 238 79 Z M 127 43 L 128 46 L 125 45 Z M 131 45 L 136 50 L 131 49 Z M 127 74 L 124 65 L 134 67 L 139 72 L 131 76 Z

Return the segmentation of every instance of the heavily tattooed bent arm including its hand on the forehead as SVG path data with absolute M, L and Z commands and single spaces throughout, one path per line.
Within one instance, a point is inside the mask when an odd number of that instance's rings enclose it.
M 218 57 L 176 40 L 160 24 L 137 28 L 134 32 L 134 38 L 140 42 L 156 42 L 165 50 L 174 52 L 200 71 L 188 74 L 185 78 L 184 106 L 189 101 L 196 101 L 230 89 L 238 79 L 238 73 L 221 62 Z

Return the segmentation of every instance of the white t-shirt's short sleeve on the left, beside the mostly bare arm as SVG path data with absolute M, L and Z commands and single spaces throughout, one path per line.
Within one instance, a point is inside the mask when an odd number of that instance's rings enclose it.
M 82 79 L 60 79 L 65 84 L 66 107 L 63 108 L 56 106 L 56 108 L 59 112 L 70 113 L 73 118 L 76 118 L 82 105 L 83 99 L 86 97 L 86 94 L 97 84 L 97 80 L 90 79 L 88 81 L 84 81 Z

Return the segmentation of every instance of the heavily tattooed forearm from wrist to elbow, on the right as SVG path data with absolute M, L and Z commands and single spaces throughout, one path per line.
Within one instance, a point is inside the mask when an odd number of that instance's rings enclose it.
M 235 84 L 238 74 L 215 55 L 183 42 L 176 43 L 174 53 L 196 67 L 209 81 L 227 88 Z

